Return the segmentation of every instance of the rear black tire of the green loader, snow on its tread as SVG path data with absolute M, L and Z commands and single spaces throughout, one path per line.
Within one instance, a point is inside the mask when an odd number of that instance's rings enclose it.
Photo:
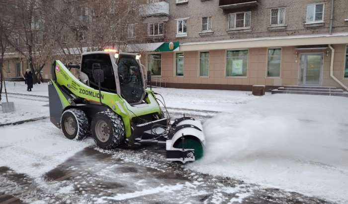
M 84 111 L 76 108 L 63 112 L 61 126 L 65 137 L 70 140 L 82 140 L 87 136 L 89 124 Z

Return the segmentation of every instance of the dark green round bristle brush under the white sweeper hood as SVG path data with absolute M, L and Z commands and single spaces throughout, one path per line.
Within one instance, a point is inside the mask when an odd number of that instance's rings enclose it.
M 202 143 L 196 139 L 195 137 L 186 137 L 185 136 L 185 139 L 182 140 L 181 139 L 178 139 L 175 143 L 174 143 L 174 148 L 179 148 L 179 149 L 194 149 L 194 157 L 195 157 L 195 160 L 198 160 L 200 158 L 203 157 L 203 146 L 202 146 Z

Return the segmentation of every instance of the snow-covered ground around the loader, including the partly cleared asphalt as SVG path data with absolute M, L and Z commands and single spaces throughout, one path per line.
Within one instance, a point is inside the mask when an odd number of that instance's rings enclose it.
M 0 112 L 0 124 L 49 116 L 47 98 L 18 95 L 28 94 L 20 84 L 7 91 L 17 93 L 16 111 Z M 348 98 L 155 91 L 172 116 L 204 121 L 200 161 L 167 162 L 157 147 L 101 151 L 91 138 L 66 139 L 49 119 L 4 126 L 0 202 L 348 203 Z M 30 94 L 47 97 L 47 84 Z

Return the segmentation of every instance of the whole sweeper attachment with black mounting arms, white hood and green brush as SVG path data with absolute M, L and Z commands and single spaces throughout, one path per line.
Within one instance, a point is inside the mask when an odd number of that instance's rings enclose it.
M 205 138 L 202 124 L 192 117 L 181 117 L 169 124 L 170 119 L 162 118 L 134 128 L 132 144 L 164 144 L 167 160 L 182 163 L 202 158 Z M 169 125 L 168 125 L 169 124 Z

